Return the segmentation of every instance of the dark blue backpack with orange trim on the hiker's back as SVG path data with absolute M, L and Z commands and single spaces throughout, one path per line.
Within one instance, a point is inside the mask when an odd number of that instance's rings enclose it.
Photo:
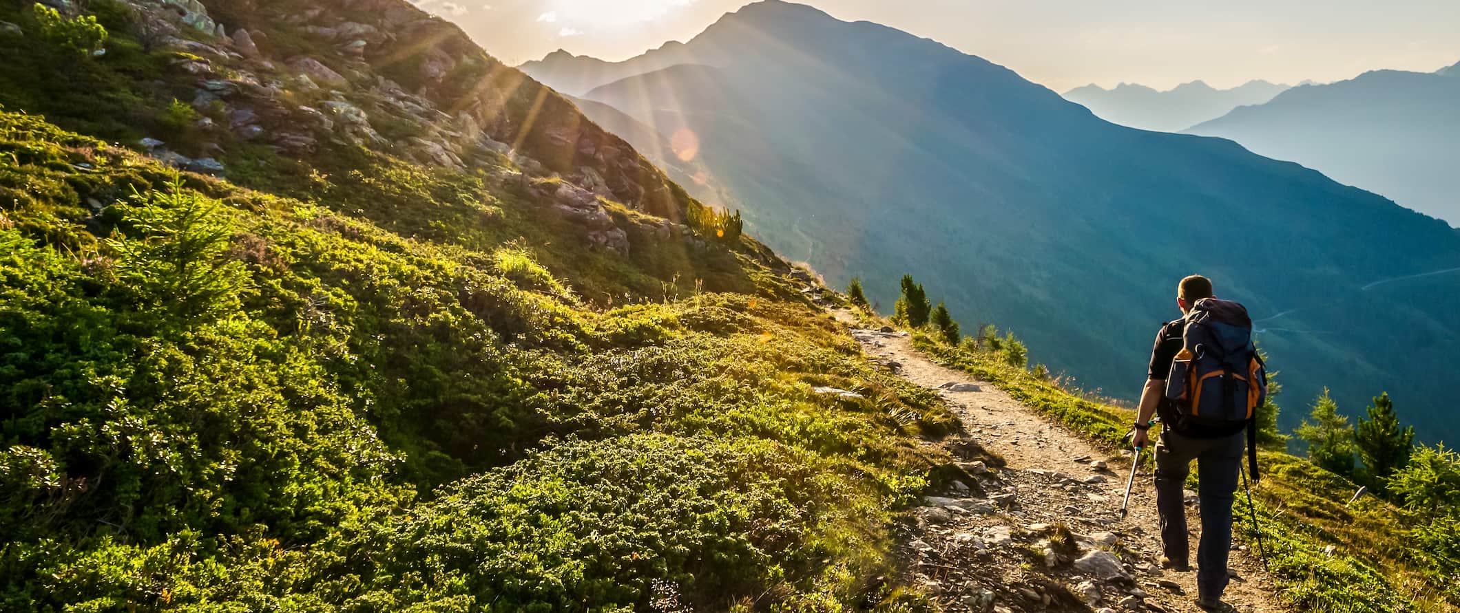
M 1248 422 L 1267 400 L 1267 371 L 1253 344 L 1247 308 L 1203 298 L 1186 317 L 1181 352 L 1171 362 L 1167 397 L 1196 423 Z M 1251 438 L 1251 436 L 1250 436 Z

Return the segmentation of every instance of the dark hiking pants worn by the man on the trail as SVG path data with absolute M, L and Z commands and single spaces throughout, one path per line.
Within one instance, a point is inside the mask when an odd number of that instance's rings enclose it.
M 1232 498 L 1237 474 L 1247 448 L 1247 433 L 1202 439 L 1169 429 L 1156 444 L 1156 511 L 1161 514 L 1161 541 L 1167 558 L 1190 562 L 1183 483 L 1196 460 L 1200 480 L 1202 544 L 1196 552 L 1196 584 L 1203 598 L 1221 598 L 1226 590 L 1226 555 L 1232 546 Z

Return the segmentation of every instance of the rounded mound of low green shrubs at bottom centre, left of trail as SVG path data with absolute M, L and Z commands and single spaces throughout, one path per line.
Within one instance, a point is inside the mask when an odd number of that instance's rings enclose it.
M 676 595 L 717 609 L 783 582 L 818 591 L 837 571 L 823 556 L 860 539 L 835 533 L 853 530 L 847 509 L 819 501 L 872 496 L 842 469 L 764 441 L 641 435 L 454 483 L 361 544 L 384 544 L 372 587 L 393 601 L 642 610 Z

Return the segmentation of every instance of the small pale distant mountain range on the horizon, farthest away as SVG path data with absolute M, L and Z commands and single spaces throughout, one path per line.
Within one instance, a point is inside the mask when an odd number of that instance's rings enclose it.
M 1099 118 L 1142 130 L 1180 131 L 1228 111 L 1263 104 L 1291 88 L 1289 85 L 1250 80 L 1232 89 L 1215 89 L 1193 80 L 1158 92 L 1145 85 L 1120 83 L 1115 89 L 1086 85 L 1064 92 L 1064 98 L 1089 108 Z

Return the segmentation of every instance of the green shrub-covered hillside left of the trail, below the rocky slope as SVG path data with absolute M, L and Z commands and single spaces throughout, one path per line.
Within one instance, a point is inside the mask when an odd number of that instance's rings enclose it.
M 866 594 L 950 417 L 784 264 L 620 261 L 482 175 L 365 159 L 407 180 L 390 217 L 489 231 L 407 238 L 343 212 L 364 187 L 175 178 L 0 114 L 4 609 Z

